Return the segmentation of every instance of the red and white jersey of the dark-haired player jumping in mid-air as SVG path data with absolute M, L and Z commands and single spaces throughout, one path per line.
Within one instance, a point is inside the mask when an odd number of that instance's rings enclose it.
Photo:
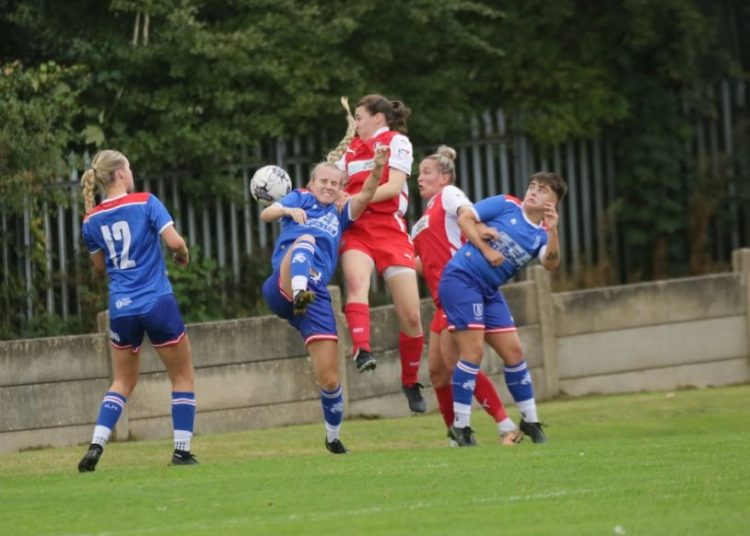
M 374 165 L 375 149 L 381 145 L 388 146 L 388 162 L 383 166 L 383 174 L 380 176 L 380 184 L 388 182 L 388 174 L 391 168 L 398 169 L 406 173 L 408 177 L 411 174 L 411 167 L 414 164 L 414 154 L 411 148 L 409 138 L 399 134 L 395 130 L 388 130 L 383 127 L 375 132 L 372 138 L 362 140 L 359 137 L 354 138 L 349 147 L 346 149 L 344 156 L 336 162 L 336 166 L 346 171 L 349 179 L 344 186 L 344 191 L 350 195 L 359 193 L 362 190 L 362 184 L 367 180 L 370 171 Z M 403 216 L 409 206 L 409 187 L 404 181 L 401 194 L 391 199 L 386 199 L 379 203 L 370 203 L 365 210 L 365 214 L 398 214 Z

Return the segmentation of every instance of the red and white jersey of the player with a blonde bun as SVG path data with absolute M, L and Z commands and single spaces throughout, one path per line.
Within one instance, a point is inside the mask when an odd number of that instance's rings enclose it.
M 438 284 L 443 268 L 463 244 L 458 210 L 465 206 L 472 206 L 466 194 L 455 186 L 446 186 L 427 202 L 424 214 L 411 228 L 414 249 L 422 261 L 422 276 L 435 304 L 440 303 Z

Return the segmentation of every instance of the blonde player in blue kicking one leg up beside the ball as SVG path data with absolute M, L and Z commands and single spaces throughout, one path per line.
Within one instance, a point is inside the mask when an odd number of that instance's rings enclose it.
M 385 163 L 386 148 L 376 152 L 373 169 L 362 190 L 347 200 L 341 211 L 336 200 L 344 174 L 329 163 L 318 164 L 307 189 L 293 190 L 260 217 L 281 220 L 271 262 L 273 273 L 263 283 L 263 297 L 271 310 L 285 318 L 305 340 L 326 428 L 326 448 L 345 454 L 339 439 L 344 398 L 338 371 L 336 317 L 326 285 L 338 259 L 341 233 L 364 212 L 375 194 Z

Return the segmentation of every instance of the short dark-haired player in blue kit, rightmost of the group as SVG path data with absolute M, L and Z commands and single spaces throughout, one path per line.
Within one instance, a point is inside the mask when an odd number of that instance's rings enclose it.
M 556 205 L 567 185 L 559 175 L 540 172 L 531 176 L 521 202 L 509 195 L 480 201 L 458 218 L 467 242 L 453 256 L 440 279 L 440 301 L 460 352 L 451 380 L 453 411 L 450 433 L 459 446 L 476 442 L 471 430 L 471 399 L 486 341 L 505 364 L 505 383 L 521 412 L 521 430 L 534 443 L 544 443 L 536 413 L 531 375 L 508 304 L 498 287 L 534 259 L 547 270 L 560 264 Z M 477 223 L 495 237 L 481 238 Z

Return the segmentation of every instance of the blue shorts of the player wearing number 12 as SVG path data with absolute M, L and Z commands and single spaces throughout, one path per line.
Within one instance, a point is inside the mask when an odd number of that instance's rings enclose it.
M 165 294 L 156 300 L 151 310 L 142 315 L 110 318 L 109 339 L 119 349 L 141 349 L 143 333 L 151 344 L 159 348 L 177 344 L 185 336 L 185 324 L 174 294 Z

